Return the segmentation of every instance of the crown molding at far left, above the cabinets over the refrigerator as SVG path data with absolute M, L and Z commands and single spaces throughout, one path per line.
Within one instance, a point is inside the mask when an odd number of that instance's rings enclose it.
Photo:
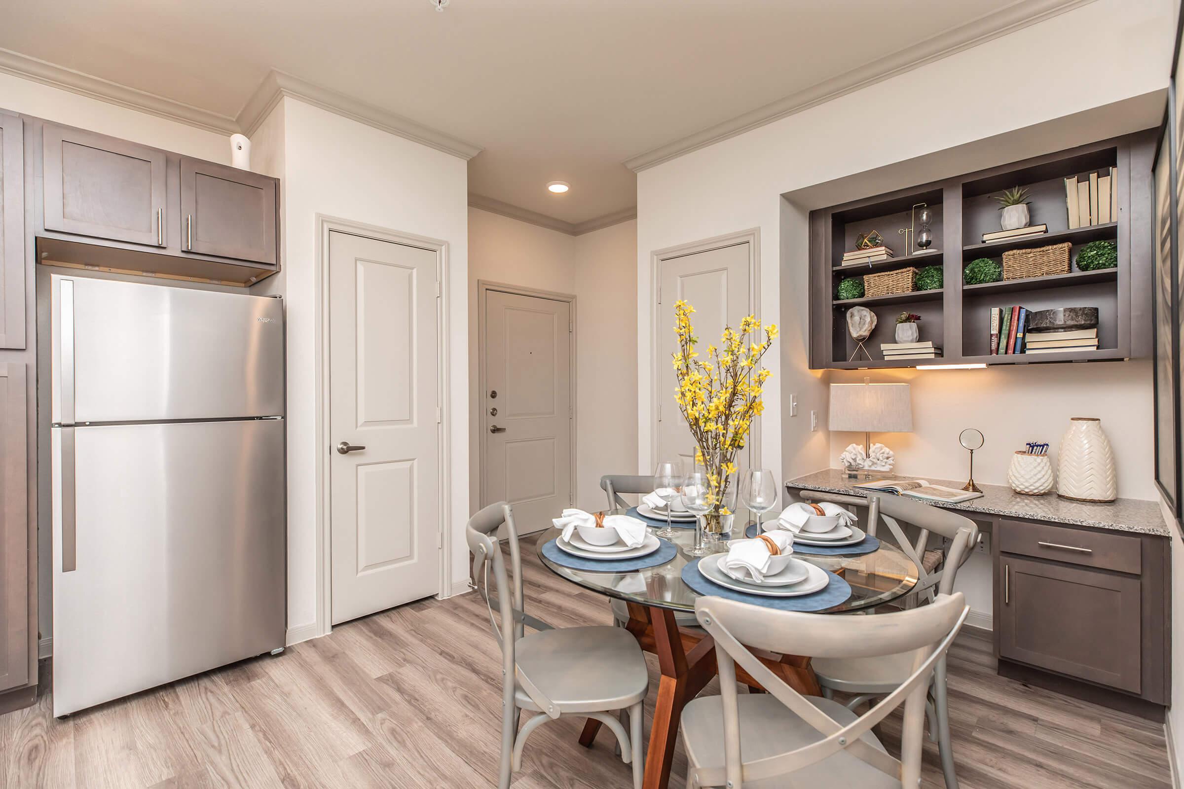
M 175 102 L 163 96 L 149 93 L 147 91 L 120 85 L 107 79 L 92 77 L 73 69 L 58 66 L 45 60 L 38 60 L 11 50 L 0 50 L 0 72 L 9 73 L 22 79 L 39 82 L 50 88 L 67 90 L 88 98 L 98 99 L 109 104 L 137 112 L 147 112 L 156 117 L 185 123 L 206 131 L 217 134 L 234 134 L 238 124 L 234 118 L 202 110 L 199 106 Z

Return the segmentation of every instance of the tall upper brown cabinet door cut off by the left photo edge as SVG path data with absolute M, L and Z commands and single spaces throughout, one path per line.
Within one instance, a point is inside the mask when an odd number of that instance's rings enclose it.
M 25 347 L 25 147 L 21 119 L 0 112 L 0 348 Z

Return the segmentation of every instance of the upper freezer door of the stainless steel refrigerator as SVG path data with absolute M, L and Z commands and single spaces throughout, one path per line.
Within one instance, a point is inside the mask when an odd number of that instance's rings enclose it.
M 279 299 L 51 278 L 52 421 L 284 413 Z

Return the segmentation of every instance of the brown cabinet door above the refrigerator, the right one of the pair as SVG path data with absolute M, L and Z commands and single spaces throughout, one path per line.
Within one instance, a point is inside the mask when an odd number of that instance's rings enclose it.
M 276 263 L 276 180 L 181 157 L 181 248 Z

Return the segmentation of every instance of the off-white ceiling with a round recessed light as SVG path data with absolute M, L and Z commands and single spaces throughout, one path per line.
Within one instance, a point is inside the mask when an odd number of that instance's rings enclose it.
M 480 145 L 471 193 L 579 224 L 635 205 L 630 157 L 1000 9 L 1064 5 L 0 0 L 0 47 L 229 117 L 277 69 Z

